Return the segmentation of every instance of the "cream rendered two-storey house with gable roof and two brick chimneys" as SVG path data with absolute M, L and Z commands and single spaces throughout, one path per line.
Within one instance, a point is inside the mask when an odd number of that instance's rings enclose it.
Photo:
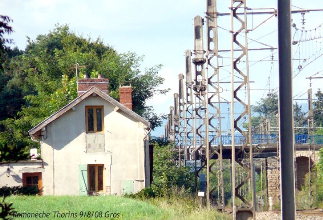
M 41 145 L 43 195 L 121 195 L 150 185 L 150 124 L 131 110 L 131 86 L 119 88 L 118 102 L 107 83 L 79 80 L 79 96 L 29 131 Z

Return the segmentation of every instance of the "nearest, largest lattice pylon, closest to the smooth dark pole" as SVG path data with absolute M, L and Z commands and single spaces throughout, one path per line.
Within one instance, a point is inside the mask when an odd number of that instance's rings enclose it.
M 248 60 L 248 37 L 247 37 L 247 6 L 246 0 L 231 0 L 231 135 L 232 135 L 232 205 L 235 219 L 248 219 L 248 217 L 255 219 L 255 191 L 254 191 L 254 177 L 253 177 L 253 154 L 252 154 L 252 139 L 251 139 L 251 114 L 250 114 L 250 85 L 249 85 L 249 60 Z M 238 13 L 242 12 L 242 17 Z M 238 26 L 236 28 L 236 26 Z M 244 39 L 240 43 L 239 39 Z M 242 51 L 235 51 L 234 46 L 239 46 Z M 237 57 L 237 58 L 235 58 Z M 244 62 L 242 59 L 245 59 Z M 242 83 L 235 85 L 235 79 L 242 78 Z M 241 88 L 246 88 L 243 91 L 241 98 Z M 240 92 L 240 93 L 239 93 Z M 246 94 L 245 94 L 246 93 Z M 244 110 L 235 116 L 234 102 L 242 106 Z M 248 122 L 248 130 L 243 131 L 241 125 L 244 121 Z M 239 148 L 235 146 L 235 133 L 240 133 L 244 136 L 245 142 Z M 243 155 L 245 160 L 238 158 L 238 155 Z M 235 166 L 243 168 L 243 178 L 241 181 L 235 178 Z M 251 181 L 250 181 L 251 180 Z M 251 195 L 243 195 L 239 190 L 244 185 L 251 184 Z M 248 196 L 251 199 L 248 199 Z M 237 206 L 236 198 L 240 199 L 242 204 Z

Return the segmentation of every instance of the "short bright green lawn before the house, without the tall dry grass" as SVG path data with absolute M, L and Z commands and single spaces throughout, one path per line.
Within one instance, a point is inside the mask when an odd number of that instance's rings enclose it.
M 13 202 L 13 207 L 18 213 L 45 212 L 50 213 L 50 219 L 62 218 L 62 216 L 76 219 L 84 218 L 84 216 L 86 219 L 104 219 L 105 215 L 112 219 L 150 219 L 149 216 L 154 216 L 154 219 L 168 219 L 172 217 L 168 210 L 117 196 L 10 196 L 6 201 Z

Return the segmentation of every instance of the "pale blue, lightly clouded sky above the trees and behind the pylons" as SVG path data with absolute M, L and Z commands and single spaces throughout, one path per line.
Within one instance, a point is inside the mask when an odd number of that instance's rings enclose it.
M 323 9 L 321 0 L 294 0 L 292 10 Z M 251 11 L 270 11 L 277 9 L 277 1 L 248 0 Z M 220 13 L 229 13 L 230 1 L 218 0 Z M 257 8 L 268 8 L 256 10 Z M 271 8 L 271 9 L 270 9 Z M 14 33 L 10 38 L 14 46 L 24 49 L 27 36 L 34 40 L 39 34 L 47 34 L 55 24 L 68 24 L 70 30 L 83 37 L 96 39 L 100 37 L 106 45 L 113 46 L 119 52 L 132 51 L 144 55 L 142 70 L 162 64 L 160 75 L 165 78 L 161 88 L 170 88 L 167 95 L 159 95 L 149 100 L 158 114 L 169 113 L 173 105 L 173 94 L 178 92 L 178 74 L 185 72 L 185 50 L 194 49 L 193 19 L 200 15 L 205 17 L 206 0 L 2 0 L 0 14 L 7 15 Z M 249 76 L 251 103 L 278 89 L 278 53 L 268 50 L 277 47 L 277 18 L 270 15 L 248 16 L 248 48 L 266 48 L 249 52 Z M 306 77 L 323 75 L 323 11 L 309 12 L 304 15 L 293 14 L 293 23 L 299 31 L 292 29 L 293 40 L 308 40 L 293 46 L 293 71 L 295 101 L 306 102 L 307 90 L 312 86 L 315 93 L 321 88 L 323 79 L 311 81 Z M 230 16 L 220 16 L 219 49 L 231 48 Z M 236 23 L 234 23 L 237 25 Z M 319 26 L 322 25 L 320 28 Z M 315 30 L 316 28 L 316 30 Z M 322 30 L 321 30 L 322 29 Z M 205 26 L 204 26 L 205 30 Z M 303 31 L 301 30 L 308 30 Z M 312 31 L 309 31 L 312 30 Z M 205 37 L 205 36 L 204 36 Z M 244 38 L 241 38 L 244 39 Z M 235 46 L 236 48 L 236 46 Z M 236 56 L 237 53 L 234 54 Z M 230 52 L 220 53 L 220 71 L 222 81 L 230 80 Z M 273 57 L 273 58 L 271 58 Z M 261 60 L 261 61 L 260 61 Z M 304 62 L 304 60 L 306 60 Z M 245 60 L 244 60 L 245 61 Z M 244 62 L 242 62 L 243 64 Z M 302 66 L 298 71 L 298 66 Z M 229 84 L 223 86 L 221 96 L 230 100 Z M 323 89 L 323 88 L 322 88 Z M 243 91 L 241 92 L 243 93 Z M 152 135 L 164 134 L 164 127 L 152 132 Z

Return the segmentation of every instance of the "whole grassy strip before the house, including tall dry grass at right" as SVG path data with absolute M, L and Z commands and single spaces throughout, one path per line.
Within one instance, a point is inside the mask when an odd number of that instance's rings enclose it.
M 10 196 L 6 202 L 13 202 L 17 213 L 50 213 L 49 219 L 231 219 L 176 194 L 146 201 L 118 196 Z

